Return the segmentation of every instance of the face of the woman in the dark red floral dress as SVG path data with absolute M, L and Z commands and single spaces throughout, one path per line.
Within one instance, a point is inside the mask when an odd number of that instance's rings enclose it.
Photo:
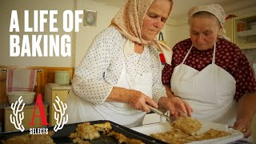
M 221 26 L 218 19 L 213 17 L 190 18 L 190 38 L 198 50 L 208 50 L 217 41 Z

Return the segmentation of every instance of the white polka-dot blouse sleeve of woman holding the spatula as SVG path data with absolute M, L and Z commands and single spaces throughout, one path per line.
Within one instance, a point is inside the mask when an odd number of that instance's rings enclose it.
M 111 34 L 111 36 L 110 36 Z M 114 49 L 122 42 L 118 30 L 109 28 L 94 38 L 72 81 L 74 94 L 94 104 L 102 104 L 113 86 L 106 82 L 104 74 L 112 62 Z

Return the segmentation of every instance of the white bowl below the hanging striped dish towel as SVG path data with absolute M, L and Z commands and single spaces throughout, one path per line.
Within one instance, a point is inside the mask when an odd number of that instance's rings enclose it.
M 29 105 L 34 102 L 34 95 L 35 92 L 32 91 L 13 91 L 7 93 L 8 101 L 10 104 L 15 103 L 16 101 L 18 101 L 18 98 L 22 96 L 25 105 Z

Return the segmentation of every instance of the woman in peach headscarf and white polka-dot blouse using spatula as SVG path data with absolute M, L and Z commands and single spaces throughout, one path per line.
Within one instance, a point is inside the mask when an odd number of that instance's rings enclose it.
M 69 122 L 110 120 L 141 126 L 147 105 L 186 111 L 166 96 L 158 50 L 171 61 L 172 50 L 156 40 L 170 15 L 171 0 L 127 0 L 111 25 L 94 38 L 75 71 L 67 99 Z M 153 98 L 153 99 L 152 99 Z

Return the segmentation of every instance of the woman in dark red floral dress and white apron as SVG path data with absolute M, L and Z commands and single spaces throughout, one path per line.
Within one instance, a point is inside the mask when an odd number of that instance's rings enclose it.
M 174 46 L 162 82 L 168 94 L 190 104 L 194 118 L 234 125 L 248 137 L 256 82 L 242 50 L 225 37 L 224 10 L 218 4 L 195 6 L 188 16 L 190 38 Z

